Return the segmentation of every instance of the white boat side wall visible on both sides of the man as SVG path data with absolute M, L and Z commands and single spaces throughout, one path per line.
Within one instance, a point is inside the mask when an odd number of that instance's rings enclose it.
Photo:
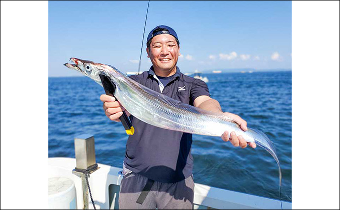
M 81 179 L 72 174 L 75 158 L 48 159 L 49 178 L 66 177 L 74 181 L 77 209 L 83 209 Z M 90 175 L 89 183 L 97 209 L 118 209 L 121 168 L 98 164 L 100 169 Z M 90 201 L 91 202 L 91 201 Z M 195 183 L 194 209 L 281 209 L 280 201 Z M 282 201 L 283 209 L 292 209 L 292 203 Z M 92 204 L 89 208 L 93 209 Z

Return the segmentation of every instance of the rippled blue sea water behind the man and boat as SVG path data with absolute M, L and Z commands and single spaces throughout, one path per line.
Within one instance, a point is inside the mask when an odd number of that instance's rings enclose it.
M 239 115 L 272 140 L 281 163 L 282 199 L 291 201 L 291 71 L 203 76 L 223 111 Z M 90 133 L 97 162 L 121 168 L 128 136 L 121 123 L 106 118 L 102 87 L 87 77 L 67 77 L 49 78 L 48 89 L 49 157 L 75 157 L 74 137 Z M 279 199 L 278 167 L 262 148 L 240 149 L 219 137 L 193 135 L 192 155 L 196 183 Z

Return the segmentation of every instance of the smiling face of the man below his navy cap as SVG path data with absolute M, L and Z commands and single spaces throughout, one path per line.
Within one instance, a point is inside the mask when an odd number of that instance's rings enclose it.
M 176 67 L 178 56 L 180 56 L 176 39 L 170 34 L 153 37 L 146 52 L 154 69 L 165 71 L 173 70 Z

